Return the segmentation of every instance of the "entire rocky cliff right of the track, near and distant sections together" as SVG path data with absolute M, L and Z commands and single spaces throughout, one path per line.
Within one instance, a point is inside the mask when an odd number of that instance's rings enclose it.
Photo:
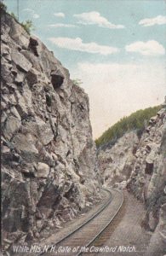
M 145 204 L 141 225 L 155 231 L 148 255 L 160 255 L 166 250 L 166 102 L 140 138 L 131 131 L 100 150 L 99 166 L 107 186 L 128 189 Z

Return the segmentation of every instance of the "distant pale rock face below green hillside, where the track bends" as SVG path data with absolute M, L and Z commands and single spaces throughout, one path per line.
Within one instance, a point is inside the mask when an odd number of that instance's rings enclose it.
M 135 148 L 138 143 L 135 131 L 130 131 L 119 138 L 112 148 L 99 151 L 100 172 L 107 186 L 116 187 L 118 184 L 118 187 L 121 187 L 129 179 L 135 165 Z

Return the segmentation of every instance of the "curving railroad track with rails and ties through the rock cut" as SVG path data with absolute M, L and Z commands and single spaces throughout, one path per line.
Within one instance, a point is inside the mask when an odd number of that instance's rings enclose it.
M 77 230 L 62 238 L 56 244 L 49 247 L 49 250 L 37 254 L 49 256 L 80 256 L 84 253 L 89 255 L 90 249 L 93 248 L 94 241 L 100 237 L 100 234 L 106 230 L 107 226 L 112 223 L 112 220 L 117 216 L 120 208 L 123 205 L 123 194 L 117 189 L 105 189 L 110 198 L 100 211 L 96 212 L 88 221 L 80 225 Z

